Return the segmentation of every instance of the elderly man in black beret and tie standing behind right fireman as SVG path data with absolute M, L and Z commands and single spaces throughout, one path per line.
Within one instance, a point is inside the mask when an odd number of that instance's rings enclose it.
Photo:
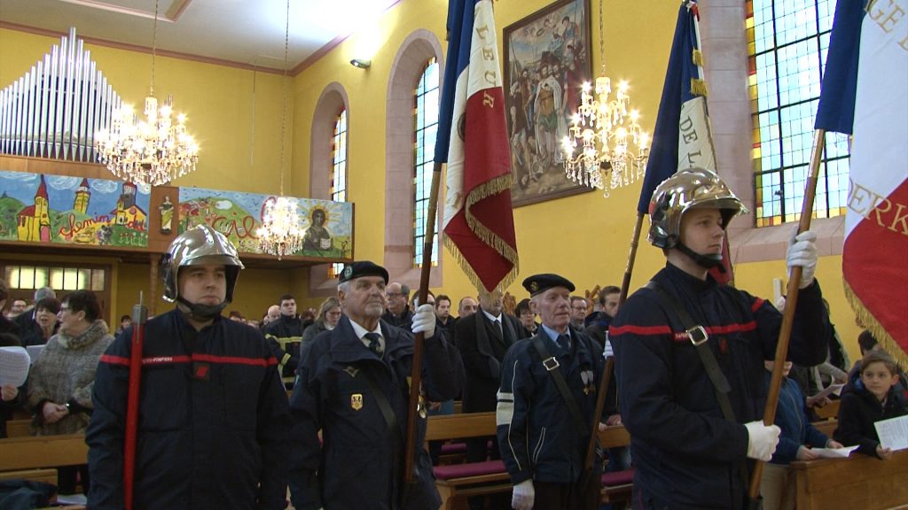
M 584 456 L 602 375 L 602 348 L 570 326 L 574 284 L 557 274 L 523 281 L 542 325 L 508 349 L 498 391 L 498 444 L 517 510 L 593 510 L 601 462 L 583 484 Z

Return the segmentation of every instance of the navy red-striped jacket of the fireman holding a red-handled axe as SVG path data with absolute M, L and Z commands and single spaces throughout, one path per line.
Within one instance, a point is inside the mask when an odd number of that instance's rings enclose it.
M 283 509 L 290 416 L 277 360 L 257 329 L 221 317 L 190 353 L 191 328 L 179 310 L 145 328 L 133 508 Z M 94 378 L 92 510 L 123 508 L 132 335 L 114 340 Z

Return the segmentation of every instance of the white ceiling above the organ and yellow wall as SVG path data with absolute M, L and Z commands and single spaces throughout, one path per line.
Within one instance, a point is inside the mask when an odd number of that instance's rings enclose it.
M 374 23 L 400 0 L 157 0 L 157 47 L 236 64 L 289 69 Z M 151 47 L 155 0 L 0 0 L 0 25 Z M 0 52 L 9 51 L 0 48 Z

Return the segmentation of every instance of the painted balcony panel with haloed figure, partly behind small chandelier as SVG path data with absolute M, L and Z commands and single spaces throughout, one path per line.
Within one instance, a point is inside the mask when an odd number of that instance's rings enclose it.
M 180 188 L 179 231 L 207 223 L 222 232 L 236 249 L 262 253 L 255 231 L 262 226 L 262 212 L 273 195 L 239 191 Z M 350 203 L 297 199 L 302 250 L 294 255 L 324 259 L 349 258 L 353 252 L 353 206 Z

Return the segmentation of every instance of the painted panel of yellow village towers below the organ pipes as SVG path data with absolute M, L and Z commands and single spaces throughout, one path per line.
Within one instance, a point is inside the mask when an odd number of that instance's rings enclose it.
M 144 248 L 150 199 L 132 182 L 0 171 L 0 240 Z

